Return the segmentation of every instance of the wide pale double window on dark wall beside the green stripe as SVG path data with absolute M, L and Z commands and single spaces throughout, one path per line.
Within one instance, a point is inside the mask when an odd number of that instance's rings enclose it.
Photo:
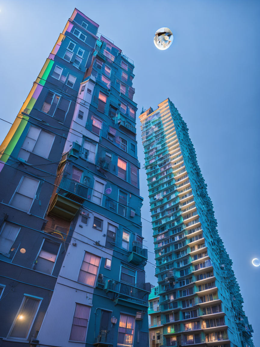
M 54 138 L 54 135 L 31 125 L 19 151 L 18 158 L 27 161 L 31 152 L 48 158 Z

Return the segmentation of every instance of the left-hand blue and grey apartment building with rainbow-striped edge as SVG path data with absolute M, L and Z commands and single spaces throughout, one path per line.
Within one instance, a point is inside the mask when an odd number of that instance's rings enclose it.
M 133 62 L 75 9 L 0 148 L 0 344 L 149 345 Z

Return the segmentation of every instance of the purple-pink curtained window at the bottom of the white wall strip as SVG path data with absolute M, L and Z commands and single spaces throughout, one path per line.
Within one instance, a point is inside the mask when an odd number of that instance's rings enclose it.
M 76 303 L 70 332 L 70 341 L 86 341 L 89 313 L 89 306 Z

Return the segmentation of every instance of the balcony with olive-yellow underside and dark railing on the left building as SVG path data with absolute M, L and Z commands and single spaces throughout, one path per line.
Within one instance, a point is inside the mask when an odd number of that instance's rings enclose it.
M 78 212 L 84 199 L 87 199 L 88 188 L 67 177 L 62 177 L 56 194 L 51 201 L 48 214 L 71 221 Z

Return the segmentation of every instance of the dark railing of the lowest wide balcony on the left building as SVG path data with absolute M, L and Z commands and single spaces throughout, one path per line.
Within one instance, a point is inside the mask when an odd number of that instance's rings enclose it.
M 114 292 L 120 294 L 120 297 L 131 302 L 141 305 L 148 305 L 148 291 L 131 286 L 127 283 L 107 279 L 105 281 L 104 290 L 106 292 Z

